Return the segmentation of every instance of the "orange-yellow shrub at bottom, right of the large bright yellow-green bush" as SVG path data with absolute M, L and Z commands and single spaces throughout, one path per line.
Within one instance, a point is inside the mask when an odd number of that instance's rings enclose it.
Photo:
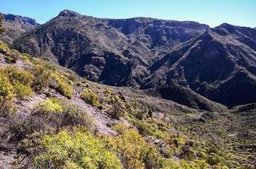
M 112 138 L 109 145 L 120 155 L 125 168 L 163 168 L 164 158 L 159 151 L 142 139 L 135 129 L 125 128 L 122 124 L 114 126 L 120 135 Z

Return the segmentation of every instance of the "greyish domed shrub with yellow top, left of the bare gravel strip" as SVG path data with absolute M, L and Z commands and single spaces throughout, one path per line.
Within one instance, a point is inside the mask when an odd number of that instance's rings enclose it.
M 94 130 L 94 120 L 89 117 L 87 113 L 79 106 L 75 106 L 69 101 L 62 101 L 58 99 L 47 99 L 40 102 L 33 114 L 34 123 L 36 126 L 50 125 L 53 128 L 60 128 L 64 126 L 85 126 L 89 131 Z M 40 121 L 36 118 L 40 117 Z

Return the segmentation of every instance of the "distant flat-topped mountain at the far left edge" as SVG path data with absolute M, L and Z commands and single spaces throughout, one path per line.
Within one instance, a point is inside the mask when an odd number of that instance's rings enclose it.
M 0 40 L 8 44 L 17 39 L 21 34 L 28 30 L 32 30 L 39 24 L 35 19 L 31 19 L 24 16 L 14 14 L 2 14 L 3 15 L 3 27 L 5 31 L 0 35 Z

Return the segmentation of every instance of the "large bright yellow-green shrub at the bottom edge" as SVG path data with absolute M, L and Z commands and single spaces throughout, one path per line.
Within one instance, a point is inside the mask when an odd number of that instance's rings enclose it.
M 113 152 L 91 134 L 63 131 L 42 139 L 42 152 L 34 158 L 38 168 L 121 168 Z

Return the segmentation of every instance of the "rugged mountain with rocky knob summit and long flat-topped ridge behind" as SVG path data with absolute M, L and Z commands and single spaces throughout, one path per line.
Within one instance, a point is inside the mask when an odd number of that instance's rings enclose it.
M 208 28 L 189 21 L 97 19 L 64 10 L 14 41 L 14 46 L 93 81 L 140 87 L 154 60 Z

